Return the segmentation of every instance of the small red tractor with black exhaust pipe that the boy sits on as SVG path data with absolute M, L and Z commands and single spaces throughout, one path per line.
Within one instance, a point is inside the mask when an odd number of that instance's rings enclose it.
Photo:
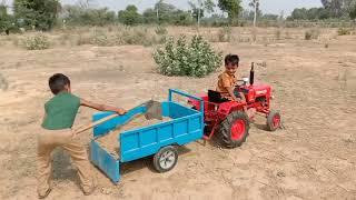
M 249 84 L 248 78 L 239 80 L 243 82 L 236 86 L 237 91 L 243 92 L 246 98 L 246 103 L 229 101 L 221 98 L 217 91 L 209 90 L 208 93 L 197 94 L 204 100 L 205 116 L 205 136 L 209 140 L 216 132 L 221 138 L 221 142 L 227 148 L 236 148 L 241 146 L 248 137 L 249 119 L 244 112 L 244 107 L 255 109 L 267 118 L 267 128 L 275 131 L 281 124 L 280 114 L 278 111 L 270 110 L 271 87 L 268 84 L 254 84 L 254 63 L 250 70 Z M 200 110 L 200 102 L 189 99 L 188 103 L 194 109 Z

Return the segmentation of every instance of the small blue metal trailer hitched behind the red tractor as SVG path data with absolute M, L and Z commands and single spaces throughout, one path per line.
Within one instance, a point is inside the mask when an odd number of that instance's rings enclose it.
M 194 110 L 174 101 L 174 94 L 200 101 L 200 110 Z M 146 107 L 139 106 L 129 110 L 125 116 L 116 117 L 93 129 L 93 139 L 90 142 L 90 160 L 116 183 L 120 180 L 120 163 L 154 156 L 155 169 L 159 172 L 166 172 L 177 163 L 177 147 L 202 138 L 205 124 L 201 98 L 170 89 L 168 101 L 161 102 L 161 114 L 170 118 L 170 121 L 121 132 L 117 138 L 118 156 L 108 152 L 97 141 L 111 130 L 129 122 L 136 114 L 145 112 Z M 110 114 L 112 112 L 96 113 L 92 120 L 97 121 Z

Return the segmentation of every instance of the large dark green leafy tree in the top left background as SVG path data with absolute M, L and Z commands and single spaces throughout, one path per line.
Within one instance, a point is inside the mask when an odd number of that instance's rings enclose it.
M 27 28 L 50 30 L 60 11 L 58 0 L 14 0 L 13 13 L 16 19 L 22 19 Z

